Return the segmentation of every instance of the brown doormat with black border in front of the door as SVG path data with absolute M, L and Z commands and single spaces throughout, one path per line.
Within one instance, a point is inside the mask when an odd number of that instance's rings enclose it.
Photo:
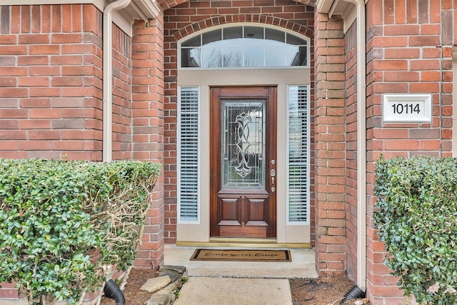
M 196 249 L 191 261 L 292 261 L 288 250 Z

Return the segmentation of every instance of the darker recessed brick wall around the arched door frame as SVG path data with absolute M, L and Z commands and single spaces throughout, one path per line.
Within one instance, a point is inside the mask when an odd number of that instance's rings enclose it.
M 313 8 L 291 0 L 191 1 L 175 5 L 176 3 L 172 1 L 161 1 L 164 9 L 169 8 L 164 12 L 166 243 L 176 241 L 177 41 L 211 26 L 235 22 L 272 24 L 297 31 L 310 37 L 311 41 L 313 38 Z M 312 48 L 311 58 L 313 58 Z M 313 66 L 312 62 L 311 66 Z

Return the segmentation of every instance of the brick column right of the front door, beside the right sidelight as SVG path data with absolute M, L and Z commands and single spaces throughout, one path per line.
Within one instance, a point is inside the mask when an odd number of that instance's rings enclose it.
M 316 11 L 316 264 L 319 275 L 345 271 L 345 40 L 343 21 Z

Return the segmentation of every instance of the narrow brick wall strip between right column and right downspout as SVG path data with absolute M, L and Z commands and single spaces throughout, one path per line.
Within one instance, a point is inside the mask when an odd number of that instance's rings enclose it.
M 346 31 L 346 272 L 357 280 L 357 25 Z

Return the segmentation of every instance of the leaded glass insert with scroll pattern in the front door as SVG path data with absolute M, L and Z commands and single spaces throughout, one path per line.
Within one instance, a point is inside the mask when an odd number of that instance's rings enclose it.
M 264 100 L 222 101 L 222 186 L 265 186 Z

